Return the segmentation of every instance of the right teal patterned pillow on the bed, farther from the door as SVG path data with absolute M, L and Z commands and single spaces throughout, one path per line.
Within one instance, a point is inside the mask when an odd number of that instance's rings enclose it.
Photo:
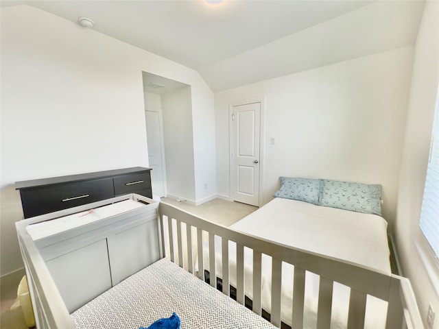
M 381 185 L 322 180 L 320 205 L 381 216 Z

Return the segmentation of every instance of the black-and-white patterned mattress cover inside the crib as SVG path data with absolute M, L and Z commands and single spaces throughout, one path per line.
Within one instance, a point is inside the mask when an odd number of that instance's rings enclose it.
M 150 326 L 176 312 L 185 328 L 276 328 L 167 258 L 71 314 L 78 329 Z

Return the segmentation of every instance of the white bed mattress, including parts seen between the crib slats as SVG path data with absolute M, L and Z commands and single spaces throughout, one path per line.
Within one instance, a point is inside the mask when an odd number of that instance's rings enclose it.
M 260 236 L 292 247 L 348 260 L 378 271 L 390 273 L 387 222 L 377 215 L 362 214 L 316 206 L 306 202 L 275 198 L 259 210 L 231 226 L 246 234 Z M 215 236 L 217 276 L 222 276 L 221 239 Z M 229 242 L 230 284 L 236 284 L 236 245 Z M 204 247 L 204 266 L 209 269 L 209 251 Z M 294 267 L 282 267 L 281 319 L 291 325 Z M 252 253 L 244 249 L 244 282 L 246 295 L 252 298 Z M 262 258 L 263 309 L 271 310 L 271 259 Z M 318 276 L 306 273 L 304 328 L 316 328 Z M 236 287 L 236 286 L 235 286 Z M 334 284 L 331 329 L 346 328 L 350 290 Z M 385 328 L 387 303 L 368 296 L 365 328 Z

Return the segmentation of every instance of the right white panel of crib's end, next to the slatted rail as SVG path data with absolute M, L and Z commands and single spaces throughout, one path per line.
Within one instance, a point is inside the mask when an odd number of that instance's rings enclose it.
M 160 259 L 157 221 L 108 236 L 113 286 Z

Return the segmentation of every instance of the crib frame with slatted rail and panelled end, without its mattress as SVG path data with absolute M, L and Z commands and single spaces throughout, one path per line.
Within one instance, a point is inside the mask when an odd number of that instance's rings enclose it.
M 117 205 L 113 206 L 117 208 L 125 201 L 143 204 L 131 210 L 123 207 L 120 211 L 102 210 L 110 205 Z M 99 212 L 104 215 L 97 216 Z M 99 218 L 92 219 L 91 215 Z M 60 228 L 64 223 L 43 230 L 34 229 L 38 228 L 34 224 L 42 222 L 48 223 L 43 226 L 51 226 L 51 223 L 67 221 L 60 218 L 64 216 L 76 219 L 69 221 L 73 226 Z M 331 325 L 335 282 L 351 289 L 346 328 L 364 327 L 368 295 L 388 305 L 385 328 L 423 328 L 406 278 L 249 236 L 140 195 L 116 197 L 25 219 L 17 222 L 16 228 L 38 328 L 75 328 L 71 318 L 73 311 L 165 256 L 202 280 L 204 269 L 208 268 L 210 283 L 215 287 L 215 236 L 222 241 L 222 290 L 226 295 L 230 295 L 228 241 L 236 244 L 235 288 L 240 304 L 245 302 L 244 249 L 252 250 L 254 316 L 259 317 L 262 313 L 261 258 L 263 254 L 272 258 L 270 321 L 274 326 L 281 326 L 281 268 L 283 263 L 289 263 L 294 265 L 293 328 L 304 326 L 307 271 L 319 276 L 319 329 Z M 204 266 L 203 261 L 206 243 L 209 244 L 209 266 Z M 85 267 L 84 262 L 88 264 Z M 65 267 L 66 264 L 69 265 Z M 97 278 L 99 284 L 93 280 L 87 282 L 91 278 Z

